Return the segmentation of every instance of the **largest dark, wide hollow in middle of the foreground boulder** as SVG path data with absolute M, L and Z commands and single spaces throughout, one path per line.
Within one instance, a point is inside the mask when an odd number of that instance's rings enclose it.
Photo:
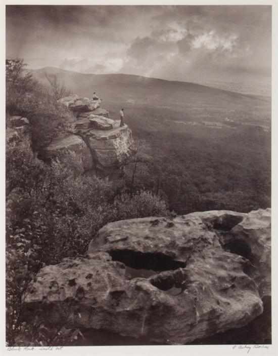
M 132 250 L 109 251 L 113 261 L 124 263 L 130 278 L 148 278 L 156 272 L 186 267 L 186 263 L 176 261 L 163 253 L 138 252 Z

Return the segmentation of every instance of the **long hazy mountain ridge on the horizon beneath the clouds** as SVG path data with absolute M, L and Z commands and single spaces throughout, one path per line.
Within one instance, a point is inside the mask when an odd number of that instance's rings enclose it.
M 69 89 L 79 95 L 90 95 L 91 92 L 98 91 L 100 96 L 107 100 L 119 99 L 123 96 L 125 100 L 130 98 L 153 102 L 159 100 L 170 102 L 172 100 L 180 103 L 192 95 L 214 95 L 221 99 L 227 99 L 228 96 L 235 99 L 243 97 L 255 97 L 222 89 L 211 88 L 208 86 L 179 82 L 167 81 L 156 78 L 149 78 L 132 74 L 89 74 L 78 73 L 56 67 L 44 67 L 31 70 L 33 75 L 40 81 L 47 83 L 44 73 L 56 74 L 61 82 Z M 120 91 L 121 90 L 121 91 Z M 184 97 L 184 95 L 186 97 Z M 259 96 L 257 96 L 259 98 Z M 265 97 L 261 97 L 264 99 Z

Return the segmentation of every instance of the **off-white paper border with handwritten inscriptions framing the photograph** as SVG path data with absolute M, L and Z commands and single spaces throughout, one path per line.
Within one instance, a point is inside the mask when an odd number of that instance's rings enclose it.
M 53 350 L 50 351 L 43 351 L 43 350 L 38 350 L 36 349 L 35 351 L 26 351 L 24 349 L 21 349 L 20 351 L 8 351 L 7 348 L 5 347 L 5 5 L 272 5 L 272 345 L 267 345 L 267 349 L 263 348 L 253 348 L 251 345 L 251 349 L 248 352 L 248 348 L 245 349 L 239 349 L 238 347 L 233 348 L 231 345 L 184 345 L 184 346 L 90 346 L 90 347 L 63 347 L 62 350 L 60 351 L 55 351 L 55 347 L 53 347 Z M 278 16 L 277 16 L 277 8 L 278 8 L 278 0 L 256 0 L 256 1 L 250 1 L 250 0 L 245 0 L 239 1 L 239 0 L 234 0 L 234 1 L 181 1 L 181 0 L 175 0 L 175 1 L 132 1 L 132 0 L 122 0 L 122 1 L 111 1 L 111 0 L 103 0 L 103 1 L 82 1 L 82 2 L 77 2 L 77 1 L 53 1 L 53 0 L 41 0 L 41 1 L 34 1 L 34 0 L 21 0 L 21 1 L 3 1 L 0 0 L 0 15 L 1 15 L 1 20 L 0 20 L 0 25 L 1 25 L 1 36 L 2 36 L 2 50 L 1 54 L 3 55 L 4 58 L 2 58 L 1 62 L 1 87 L 0 87 L 0 95 L 2 99 L 2 110 L 1 110 L 1 134 L 0 134 L 0 147 L 2 148 L 0 150 L 0 162 L 2 167 L 4 168 L 2 170 L 1 174 L 1 186 L 3 190 L 1 190 L 1 236 L 0 236 L 0 243 L 1 243 L 1 252 L 2 258 L 1 258 L 1 273 L 2 273 L 2 278 L 0 282 L 0 290 L 1 290 L 1 346 L 0 346 L 0 353 L 1 354 L 18 354 L 17 352 L 20 352 L 20 354 L 26 354 L 26 355 L 44 355 L 44 354 L 52 354 L 57 353 L 59 355 L 98 355 L 98 356 L 104 356 L 107 354 L 113 354 L 113 356 L 122 356 L 122 355 L 142 355 L 142 356 L 153 356 L 159 354 L 160 356 L 168 356 L 169 353 L 171 355 L 192 355 L 192 356 L 199 356 L 199 355 L 215 355 L 215 356 L 226 356 L 226 355 L 277 355 L 278 354 L 278 349 L 277 349 L 277 308 L 274 303 L 274 300 L 277 300 L 277 281 L 276 280 L 276 271 L 275 268 L 277 267 L 276 263 L 276 256 L 277 256 L 277 242 L 275 241 L 275 238 L 277 235 L 277 223 L 275 222 L 275 218 L 277 218 L 277 211 L 276 211 L 276 201 L 278 199 L 278 190 L 277 186 L 275 184 L 275 176 L 277 173 L 277 158 L 276 158 L 276 153 L 277 153 L 277 145 L 275 142 L 275 137 L 276 137 L 276 117 L 275 114 L 277 113 L 277 102 L 275 101 L 278 100 L 278 92 L 277 92 L 277 68 L 276 68 L 276 61 L 277 61 L 277 49 L 278 49 L 278 35 L 277 35 L 277 22 L 278 22 Z M 275 23 L 276 22 L 276 23 Z

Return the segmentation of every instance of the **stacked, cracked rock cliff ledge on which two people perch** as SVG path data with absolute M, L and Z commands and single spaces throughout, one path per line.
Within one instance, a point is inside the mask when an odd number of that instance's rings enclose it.
M 44 156 L 63 159 L 75 154 L 84 163 L 83 171 L 95 170 L 102 175 L 122 167 L 136 151 L 132 133 L 126 125 L 119 127 L 119 121 L 109 118 L 109 112 L 100 108 L 101 101 L 96 95 L 60 99 L 74 112 L 76 121 L 72 135 L 56 139 L 45 149 Z

